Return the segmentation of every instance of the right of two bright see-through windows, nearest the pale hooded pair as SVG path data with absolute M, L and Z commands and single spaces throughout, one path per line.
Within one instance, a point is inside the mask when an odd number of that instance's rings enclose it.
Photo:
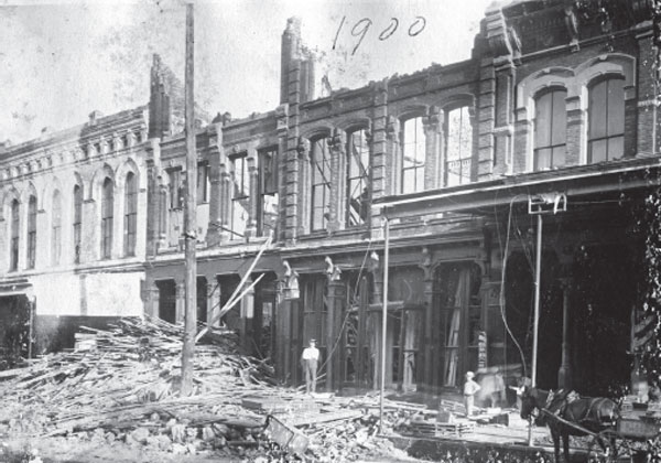
M 473 159 L 473 126 L 467 106 L 446 111 L 445 116 L 445 185 L 470 183 Z

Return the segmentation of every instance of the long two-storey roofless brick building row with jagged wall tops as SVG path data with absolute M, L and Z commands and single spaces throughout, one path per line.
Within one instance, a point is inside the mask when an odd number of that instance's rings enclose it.
M 600 4 L 501 2 L 469 60 L 322 98 L 290 20 L 280 106 L 197 132 L 198 319 L 266 247 L 224 317 L 243 348 L 297 384 L 314 337 L 328 389 L 376 387 L 387 218 L 387 385 L 530 375 L 541 207 L 539 384 L 561 369 L 581 391 L 627 383 L 630 205 L 655 182 L 657 49 L 649 2 Z M 182 320 L 185 140 L 165 77 L 156 60 L 148 107 L 0 152 L 0 302 L 31 288 L 37 321 Z

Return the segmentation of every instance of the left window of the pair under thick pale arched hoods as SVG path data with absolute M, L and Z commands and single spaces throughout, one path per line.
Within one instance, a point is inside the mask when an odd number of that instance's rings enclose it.
M 544 91 L 535 98 L 533 170 L 565 163 L 567 110 L 564 88 Z

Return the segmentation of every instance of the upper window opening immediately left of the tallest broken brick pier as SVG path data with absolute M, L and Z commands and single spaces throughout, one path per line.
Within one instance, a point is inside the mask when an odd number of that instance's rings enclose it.
M 275 235 L 278 226 L 278 148 L 259 152 L 260 204 L 258 230 L 261 236 Z

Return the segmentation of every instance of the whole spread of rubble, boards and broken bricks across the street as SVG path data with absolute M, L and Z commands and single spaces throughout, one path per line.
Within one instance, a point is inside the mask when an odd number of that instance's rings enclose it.
M 229 333 L 210 332 L 196 346 L 195 392 L 182 397 L 182 332 L 160 320 L 121 320 L 107 331 L 83 330 L 73 352 L 0 372 L 0 437 L 256 461 L 350 461 L 393 451 L 376 437 L 375 397 L 279 388 L 272 367 L 240 355 Z M 393 427 L 401 410 L 388 410 Z

